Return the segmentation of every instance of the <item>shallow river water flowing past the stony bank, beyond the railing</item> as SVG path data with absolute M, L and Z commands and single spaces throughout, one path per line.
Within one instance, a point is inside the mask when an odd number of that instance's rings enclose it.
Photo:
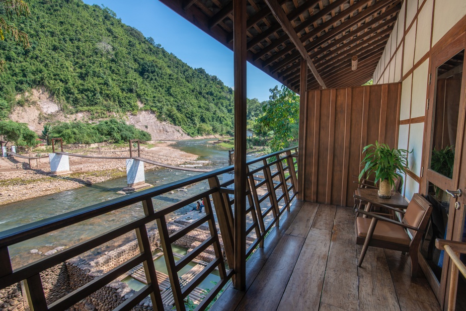
M 208 141 L 209 140 L 179 141 L 174 145 L 174 147 L 182 151 L 198 155 L 198 160 L 227 162 L 228 151 L 210 144 L 208 146 Z M 224 165 L 227 164 L 223 164 L 223 166 Z M 220 168 L 222 165 L 215 167 Z M 145 174 L 146 182 L 154 186 L 159 186 L 189 176 L 194 176 L 199 173 L 163 168 L 146 171 Z M 91 186 L 80 187 L 35 199 L 2 205 L 0 206 L 0 232 L 77 210 L 92 204 L 121 197 L 122 195 L 117 194 L 116 192 L 126 185 L 126 177 L 117 178 Z M 195 193 L 207 189 L 207 187 L 207 182 L 202 182 L 188 187 L 186 191 L 174 191 L 173 193 L 161 195 L 154 199 L 155 210 L 162 209 L 184 198 L 190 197 Z M 190 209 L 191 207 L 185 207 L 178 210 L 176 214 L 184 214 Z M 37 257 L 39 256 L 38 254 L 29 253 L 31 249 L 38 249 L 44 253 L 57 246 L 71 246 L 112 228 L 116 228 L 121 224 L 142 217 L 143 215 L 142 205 L 135 204 L 56 232 L 44 234 L 34 239 L 12 245 L 8 247 L 8 249 L 12 257 L 13 267 L 18 267 L 26 262 L 39 259 L 39 257 Z M 133 236 L 128 236 L 127 240 L 132 239 Z M 102 249 L 101 251 L 104 250 L 105 249 Z

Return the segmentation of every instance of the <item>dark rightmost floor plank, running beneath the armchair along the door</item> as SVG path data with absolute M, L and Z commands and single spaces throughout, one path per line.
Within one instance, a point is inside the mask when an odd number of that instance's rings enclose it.
M 418 303 L 427 304 L 440 310 L 440 305 L 425 277 L 411 277 L 411 260 L 400 251 L 385 249 L 391 278 L 401 310 L 418 309 Z

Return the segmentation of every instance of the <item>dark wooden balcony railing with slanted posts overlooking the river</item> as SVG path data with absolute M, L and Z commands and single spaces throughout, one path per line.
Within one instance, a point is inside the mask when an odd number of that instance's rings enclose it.
M 297 148 L 290 148 L 247 162 L 248 180 L 245 182 L 247 185 L 246 196 L 248 203 L 246 213 L 249 216 L 249 225 L 246 228 L 246 235 L 251 240 L 246 250 L 247 255 L 251 254 L 257 246 L 263 245 L 267 232 L 274 225 L 279 226 L 280 216 L 287 209 L 290 209 L 290 204 L 297 192 L 296 158 Z M 155 271 L 147 230 L 149 223 L 156 222 L 161 248 L 167 265 L 174 305 L 177 310 L 185 310 L 186 297 L 214 269 L 219 270 L 220 281 L 211 291 L 205 293 L 205 298 L 197 306 L 198 310 L 206 309 L 234 274 L 234 198 L 232 197 L 234 184 L 232 171 L 233 166 L 228 166 L 1 232 L 0 291 L 10 285 L 23 282 L 24 292 L 26 293 L 31 310 L 65 310 L 142 263 L 144 265 L 147 285 L 124 300 L 115 310 L 131 310 L 149 295 L 154 310 L 163 310 L 160 288 L 157 281 L 157 271 Z M 277 181 L 277 177 L 279 181 Z M 222 178 L 222 181 L 220 178 Z M 166 208 L 155 209 L 153 198 L 199 182 L 208 182 L 208 189 Z M 170 234 L 167 228 L 167 216 L 201 199 L 205 202 L 205 215 Z M 122 209 L 135 203 L 142 203 L 144 209 L 143 217 L 121 224 L 118 228 L 13 270 L 8 246 L 72 226 L 85 220 L 94 219 L 105 213 Z M 217 219 L 214 217 L 214 210 Z M 184 257 L 175 261 L 171 244 L 206 223 L 208 224 L 210 236 Z M 221 231 L 227 262 L 225 262 L 223 257 L 217 225 Z M 50 299 L 46 297 L 43 290 L 41 272 L 130 232 L 136 232 L 140 250 L 139 254 L 110 271 L 94 277 L 90 282 L 71 293 L 55 299 L 55 301 L 49 301 Z M 215 259 L 189 283 L 180 284 L 178 272 L 210 246 L 214 248 Z M 227 264 L 232 269 L 227 269 Z

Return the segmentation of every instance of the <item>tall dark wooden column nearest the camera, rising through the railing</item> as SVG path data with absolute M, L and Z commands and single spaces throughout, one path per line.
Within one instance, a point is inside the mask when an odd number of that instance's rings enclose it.
M 246 289 L 246 0 L 233 0 L 234 278 Z

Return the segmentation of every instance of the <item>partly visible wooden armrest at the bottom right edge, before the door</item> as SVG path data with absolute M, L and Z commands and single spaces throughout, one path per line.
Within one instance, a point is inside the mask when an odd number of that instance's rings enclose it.
M 458 282 L 458 271 L 466 278 L 466 266 L 461 261 L 459 254 L 466 254 L 466 243 L 443 239 L 436 239 L 435 246 L 438 249 L 445 250 L 452 260 L 452 269 L 450 272 L 450 290 L 448 292 L 448 311 L 455 310 L 456 288 Z

